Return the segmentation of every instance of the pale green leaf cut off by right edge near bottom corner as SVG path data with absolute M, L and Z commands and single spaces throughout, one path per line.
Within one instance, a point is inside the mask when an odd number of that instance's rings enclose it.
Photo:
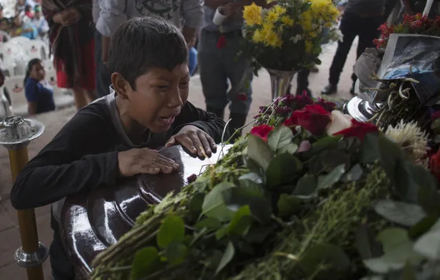
M 416 241 L 414 250 L 427 259 L 440 260 L 440 219 Z

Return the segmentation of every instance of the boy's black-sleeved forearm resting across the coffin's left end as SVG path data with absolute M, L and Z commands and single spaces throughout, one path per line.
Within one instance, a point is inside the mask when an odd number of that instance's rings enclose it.
M 25 166 L 12 187 L 10 200 L 18 210 L 52 204 L 63 197 L 102 184 L 112 185 L 118 177 L 118 153 L 86 155 L 70 164 L 50 165 L 39 156 Z

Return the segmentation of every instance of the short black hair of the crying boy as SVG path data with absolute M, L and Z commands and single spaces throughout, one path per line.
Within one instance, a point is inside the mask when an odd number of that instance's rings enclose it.
M 172 23 L 154 17 L 140 17 L 123 23 L 112 36 L 108 67 L 132 86 L 151 68 L 173 69 L 188 61 L 188 47 L 182 32 Z

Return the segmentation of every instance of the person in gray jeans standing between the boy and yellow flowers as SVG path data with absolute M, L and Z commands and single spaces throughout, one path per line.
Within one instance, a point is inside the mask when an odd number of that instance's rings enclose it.
M 263 6 L 265 3 L 256 4 Z M 224 109 L 229 103 L 231 135 L 243 127 L 252 102 L 253 72 L 249 61 L 238 57 L 243 37 L 242 9 L 250 4 L 251 1 L 205 0 L 205 26 L 198 45 L 198 67 L 207 111 L 224 118 Z M 219 6 L 229 15 L 221 26 L 213 23 Z M 227 94 L 229 84 L 230 94 Z M 240 133 L 235 133 L 235 138 Z

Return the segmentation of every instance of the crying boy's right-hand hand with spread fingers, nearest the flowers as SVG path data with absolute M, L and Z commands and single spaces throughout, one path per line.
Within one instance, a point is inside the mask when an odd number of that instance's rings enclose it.
M 193 125 L 187 125 L 180 129 L 180 131 L 169 138 L 165 147 L 171 147 L 176 144 L 181 144 L 187 148 L 190 153 L 198 155 L 200 158 L 211 157 L 212 151 L 217 150 L 216 142 L 202 129 Z

